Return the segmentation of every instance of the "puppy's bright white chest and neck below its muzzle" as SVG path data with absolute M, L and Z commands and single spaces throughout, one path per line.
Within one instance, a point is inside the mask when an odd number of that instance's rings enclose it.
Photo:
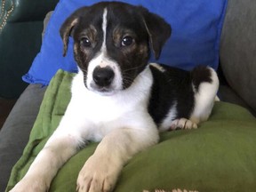
M 78 73 L 73 80 L 71 110 L 67 115 L 76 118 L 82 132 L 90 132 L 90 140 L 101 140 L 115 129 L 148 127 L 145 119 L 151 119 L 148 114 L 151 85 L 152 75 L 147 68 L 128 89 L 106 96 L 86 89 L 83 74 Z

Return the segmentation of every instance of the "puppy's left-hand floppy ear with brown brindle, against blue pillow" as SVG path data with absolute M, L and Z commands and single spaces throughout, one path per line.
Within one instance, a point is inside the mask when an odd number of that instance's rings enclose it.
M 67 50 L 68 50 L 68 37 L 71 36 L 72 29 L 76 26 L 79 20 L 79 12 L 81 10 L 78 10 L 71 14 L 67 20 L 62 24 L 60 28 L 60 36 L 63 41 L 63 56 L 66 56 Z

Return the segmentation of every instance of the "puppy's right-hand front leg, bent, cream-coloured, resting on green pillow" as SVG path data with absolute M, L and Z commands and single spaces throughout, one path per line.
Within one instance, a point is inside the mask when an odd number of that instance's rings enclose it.
M 78 175 L 77 191 L 107 192 L 113 190 L 124 164 L 144 148 L 156 144 L 157 130 L 118 129 L 101 140 L 94 154 Z

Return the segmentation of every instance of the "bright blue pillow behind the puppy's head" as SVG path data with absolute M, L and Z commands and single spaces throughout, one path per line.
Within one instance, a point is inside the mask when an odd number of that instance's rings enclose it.
M 121 0 L 140 4 L 162 16 L 172 26 L 171 38 L 164 45 L 157 62 L 189 70 L 198 64 L 217 69 L 220 33 L 228 0 Z M 49 84 L 59 68 L 76 72 L 73 41 L 70 37 L 68 54 L 62 56 L 60 26 L 77 8 L 100 0 L 60 0 L 46 28 L 41 51 L 37 54 L 23 80 L 29 84 Z M 151 61 L 156 61 L 153 58 Z

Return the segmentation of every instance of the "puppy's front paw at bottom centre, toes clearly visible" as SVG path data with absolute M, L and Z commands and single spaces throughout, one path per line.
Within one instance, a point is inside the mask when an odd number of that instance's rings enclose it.
M 120 170 L 120 167 L 113 164 L 108 158 L 91 156 L 79 172 L 76 191 L 112 191 Z

